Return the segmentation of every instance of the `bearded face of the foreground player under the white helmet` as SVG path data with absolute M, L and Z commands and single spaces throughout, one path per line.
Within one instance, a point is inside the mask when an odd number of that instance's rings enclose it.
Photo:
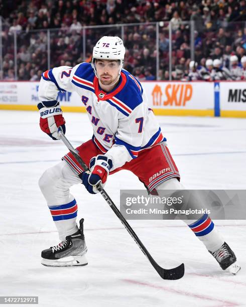
M 119 62 L 96 60 L 96 73 L 103 85 L 110 85 L 118 78 Z

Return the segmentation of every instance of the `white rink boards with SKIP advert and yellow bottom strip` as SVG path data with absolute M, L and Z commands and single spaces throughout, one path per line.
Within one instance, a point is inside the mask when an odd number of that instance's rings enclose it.
M 245 82 L 141 82 L 156 115 L 246 117 Z M 0 109 L 37 110 L 39 82 L 0 82 Z M 77 93 L 57 98 L 64 111 L 86 112 Z

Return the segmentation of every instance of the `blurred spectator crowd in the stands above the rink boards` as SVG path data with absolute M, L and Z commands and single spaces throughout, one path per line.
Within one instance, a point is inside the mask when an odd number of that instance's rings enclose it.
M 246 79 L 245 0 L 0 0 L 0 15 L 3 80 L 35 81 L 48 66 L 89 62 L 99 37 L 122 34 L 124 67 L 140 80 Z M 154 22 L 159 27 L 158 50 Z M 119 24 L 125 24 L 123 31 Z

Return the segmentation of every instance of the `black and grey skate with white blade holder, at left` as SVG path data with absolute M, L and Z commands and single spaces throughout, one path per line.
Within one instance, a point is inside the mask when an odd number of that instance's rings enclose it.
M 67 236 L 56 246 L 45 249 L 41 253 L 41 263 L 45 266 L 75 266 L 88 264 L 85 254 L 87 247 L 83 233 L 84 219 L 79 221 L 79 230 Z

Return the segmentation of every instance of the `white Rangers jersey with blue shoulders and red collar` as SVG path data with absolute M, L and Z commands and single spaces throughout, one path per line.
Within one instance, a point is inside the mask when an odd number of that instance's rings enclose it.
M 56 100 L 58 91 L 77 92 L 86 107 L 96 146 L 112 160 L 112 171 L 136 159 L 141 150 L 166 141 L 141 83 L 122 69 L 109 93 L 99 86 L 89 63 L 61 66 L 43 73 L 39 100 Z

